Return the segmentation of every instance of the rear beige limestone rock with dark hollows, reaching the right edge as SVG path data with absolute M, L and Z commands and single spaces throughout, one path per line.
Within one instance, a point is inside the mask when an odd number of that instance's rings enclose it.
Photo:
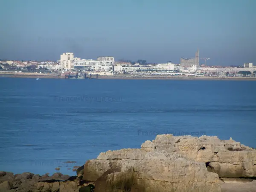
M 141 145 L 145 151 L 173 150 L 190 160 L 206 163 L 219 177 L 256 177 L 256 150 L 218 137 L 157 135 Z

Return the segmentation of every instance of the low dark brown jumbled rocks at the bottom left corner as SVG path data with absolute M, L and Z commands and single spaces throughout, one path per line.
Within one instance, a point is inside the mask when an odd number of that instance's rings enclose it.
M 0 172 L 2 173 L 2 172 Z M 23 173 L 0 174 L 0 192 L 79 192 L 91 182 L 81 181 L 79 177 L 55 173 L 51 177 Z

